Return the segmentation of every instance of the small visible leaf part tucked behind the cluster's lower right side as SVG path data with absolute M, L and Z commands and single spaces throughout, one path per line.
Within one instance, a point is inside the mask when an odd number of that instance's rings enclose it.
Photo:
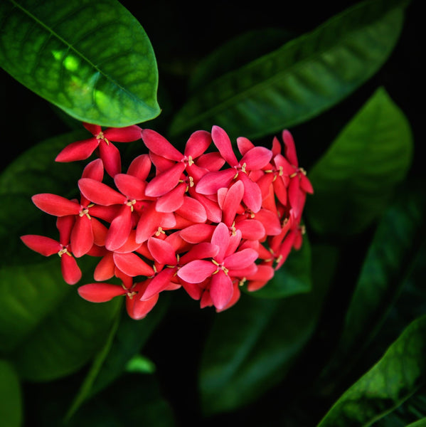
M 282 298 L 311 290 L 311 247 L 307 236 L 304 236 L 302 248 L 292 251 L 289 257 L 275 272 L 274 278 L 267 285 L 255 292 L 254 297 Z

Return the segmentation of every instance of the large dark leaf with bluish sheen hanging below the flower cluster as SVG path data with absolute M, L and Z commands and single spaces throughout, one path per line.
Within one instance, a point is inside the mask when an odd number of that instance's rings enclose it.
M 315 253 L 323 265 L 334 265 L 333 251 Z M 315 263 L 315 277 L 317 268 Z M 316 328 L 329 278 L 323 269 L 311 292 L 281 300 L 243 294 L 215 318 L 199 374 L 204 413 L 243 406 L 284 379 Z

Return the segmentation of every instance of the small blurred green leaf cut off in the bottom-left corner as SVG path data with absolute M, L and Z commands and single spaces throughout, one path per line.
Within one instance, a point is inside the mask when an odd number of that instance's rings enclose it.
M 22 426 L 21 384 L 14 368 L 3 359 L 0 359 L 0 414 L 2 426 Z

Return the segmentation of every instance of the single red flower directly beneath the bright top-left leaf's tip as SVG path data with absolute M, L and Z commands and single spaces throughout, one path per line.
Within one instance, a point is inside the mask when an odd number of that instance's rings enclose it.
M 127 127 L 110 127 L 102 132 L 99 125 L 83 123 L 83 126 L 92 133 L 93 137 L 73 142 L 65 147 L 56 157 L 56 162 L 75 162 L 85 160 L 99 148 L 100 158 L 105 170 L 110 176 L 121 172 L 121 158 L 114 142 L 132 142 L 141 138 L 141 128 L 137 125 Z

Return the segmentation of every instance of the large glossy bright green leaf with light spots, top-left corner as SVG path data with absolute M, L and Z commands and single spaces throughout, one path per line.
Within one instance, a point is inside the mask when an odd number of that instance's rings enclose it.
M 68 115 L 124 127 L 159 115 L 154 51 L 115 0 L 7 0 L 0 65 Z

